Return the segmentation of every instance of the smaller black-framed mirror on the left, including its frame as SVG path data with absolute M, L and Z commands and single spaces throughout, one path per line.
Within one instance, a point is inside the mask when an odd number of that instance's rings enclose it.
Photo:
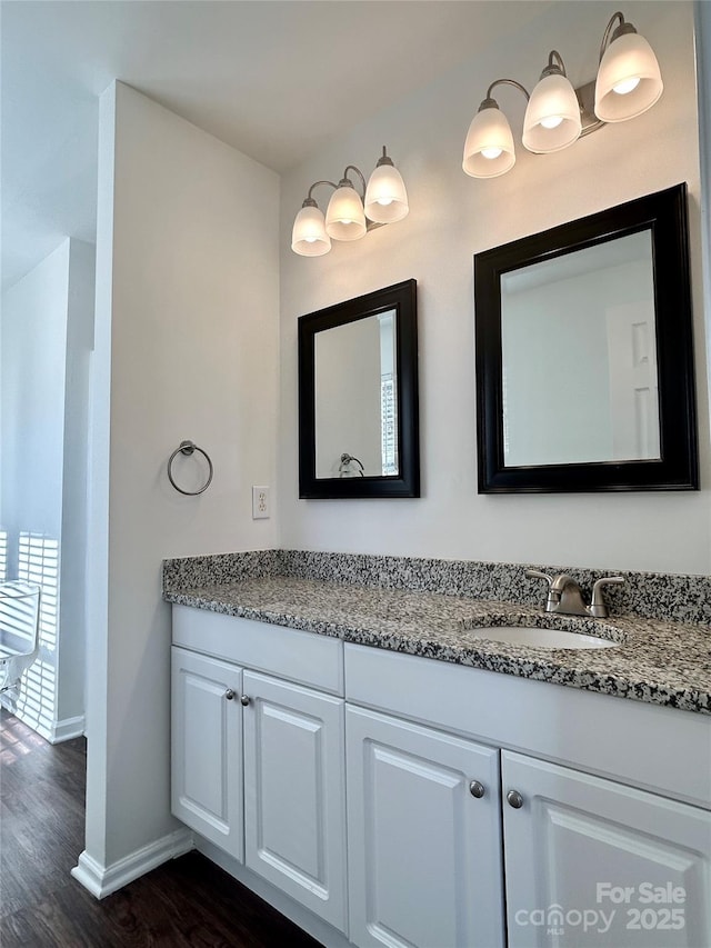
M 417 281 L 299 319 L 299 497 L 419 497 Z

